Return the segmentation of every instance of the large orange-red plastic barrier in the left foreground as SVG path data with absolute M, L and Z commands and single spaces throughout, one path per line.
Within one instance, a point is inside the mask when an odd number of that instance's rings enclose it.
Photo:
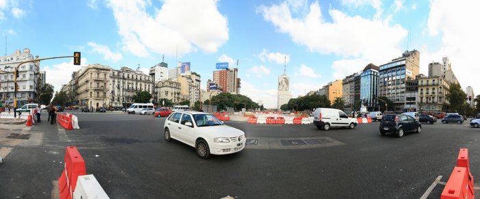
M 78 176 L 86 175 L 85 161 L 75 146 L 67 146 L 62 176 L 58 178 L 61 199 L 73 198 Z

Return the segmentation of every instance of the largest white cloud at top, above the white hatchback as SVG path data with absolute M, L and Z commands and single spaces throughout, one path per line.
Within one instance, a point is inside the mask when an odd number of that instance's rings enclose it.
M 178 55 L 196 51 L 214 53 L 228 40 L 228 21 L 215 0 L 165 0 L 152 15 L 151 1 L 110 0 L 123 50 L 145 57 L 149 51 Z

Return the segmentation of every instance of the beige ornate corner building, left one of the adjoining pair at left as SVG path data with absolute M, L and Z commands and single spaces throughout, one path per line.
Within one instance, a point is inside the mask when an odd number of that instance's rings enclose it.
M 77 105 L 93 109 L 108 105 L 109 73 L 110 67 L 101 64 L 89 64 L 73 72 Z

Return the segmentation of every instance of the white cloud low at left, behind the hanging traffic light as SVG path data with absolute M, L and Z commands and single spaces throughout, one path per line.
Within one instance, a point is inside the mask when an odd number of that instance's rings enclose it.
M 82 58 L 82 66 L 86 66 L 88 60 Z M 43 66 L 45 70 L 45 76 L 47 77 L 47 83 L 50 83 L 55 87 L 55 91 L 60 91 L 62 85 L 69 83 L 71 80 L 72 72 L 80 70 L 81 66 L 73 65 L 73 59 L 70 62 L 62 62 L 60 64 L 53 64 L 51 66 Z

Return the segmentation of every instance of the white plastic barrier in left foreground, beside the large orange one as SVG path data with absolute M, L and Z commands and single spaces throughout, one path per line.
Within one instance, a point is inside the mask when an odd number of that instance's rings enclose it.
M 73 191 L 73 199 L 104 199 L 108 198 L 104 189 L 101 188 L 97 178 L 90 175 L 78 176 L 77 186 Z M 110 199 L 110 198 L 108 198 Z

